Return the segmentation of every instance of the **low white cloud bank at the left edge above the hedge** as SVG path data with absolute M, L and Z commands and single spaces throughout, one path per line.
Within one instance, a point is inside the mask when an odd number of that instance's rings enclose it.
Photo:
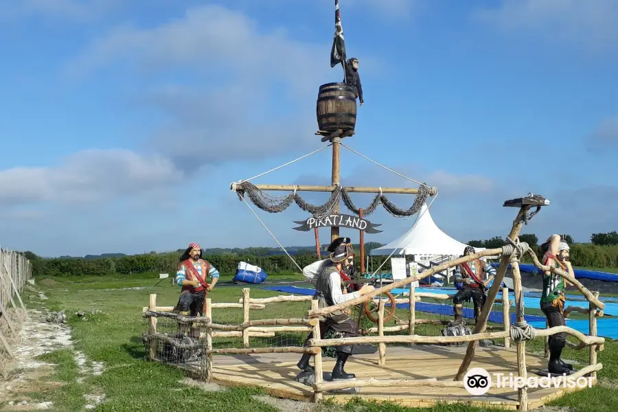
M 183 174 L 158 155 L 130 150 L 85 150 L 58 166 L 0 172 L 0 201 L 92 203 L 118 195 L 144 194 L 181 182 Z

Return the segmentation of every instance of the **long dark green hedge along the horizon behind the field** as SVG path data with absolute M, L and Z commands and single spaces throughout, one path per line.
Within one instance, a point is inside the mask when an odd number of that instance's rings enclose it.
M 538 247 L 534 247 L 537 254 Z M 540 257 L 540 256 L 539 256 Z M 131 255 L 122 258 L 80 259 L 54 258 L 32 260 L 34 276 L 105 276 L 131 275 L 145 272 L 175 273 L 180 253 L 159 253 Z M 211 255 L 205 256 L 222 275 L 233 276 L 236 273 L 238 262 L 248 262 L 260 266 L 266 273 L 299 272 L 295 264 L 286 255 L 271 256 L 238 256 L 238 255 Z M 385 257 L 373 258 L 374 270 L 380 266 Z M 294 257 L 299 266 L 304 267 L 315 262 L 315 255 L 297 255 Z M 531 262 L 529 258 L 523 260 Z M 571 262 L 573 266 L 587 268 L 618 268 L 618 246 L 597 246 L 594 244 L 571 245 Z M 360 269 L 360 262 L 356 260 L 356 268 Z M 371 268 L 371 262 L 369 263 Z M 390 262 L 386 262 L 380 269 L 382 273 L 391 271 Z

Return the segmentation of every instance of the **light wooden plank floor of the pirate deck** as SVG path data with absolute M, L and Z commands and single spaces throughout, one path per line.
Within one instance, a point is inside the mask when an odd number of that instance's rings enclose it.
M 466 346 L 447 347 L 419 345 L 415 347 L 387 347 L 386 365 L 378 366 L 378 354 L 351 356 L 345 365 L 348 373 L 356 374 L 357 379 L 427 379 L 453 380 Z M 254 354 L 254 355 L 215 355 L 213 361 L 213 382 L 220 385 L 264 387 L 271 395 L 293 400 L 312 401 L 311 387 L 296 382 L 299 372 L 297 354 Z M 547 359 L 531 354 L 526 355 L 528 376 L 547 367 Z M 189 369 L 197 367 L 185 365 Z M 324 371 L 334 367 L 333 358 L 323 358 Z M 517 357 L 515 349 L 503 347 L 477 347 L 474 361 L 470 365 L 482 367 L 490 374 L 511 372 L 516 375 Z M 493 378 L 493 376 L 492 376 Z M 461 388 L 360 388 L 354 395 L 324 393 L 324 398 L 335 402 L 347 402 L 354 397 L 367 400 L 391 401 L 407 407 L 431 407 L 436 402 L 465 402 L 468 404 L 500 405 L 505 409 L 516 409 L 517 391 L 509 388 L 492 388 L 484 396 L 472 396 Z M 539 388 L 529 389 L 530 407 L 540 407 L 556 398 L 556 392 L 563 394 L 567 389 Z

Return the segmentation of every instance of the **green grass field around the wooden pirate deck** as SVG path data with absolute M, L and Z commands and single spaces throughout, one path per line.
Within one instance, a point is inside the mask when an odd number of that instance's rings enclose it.
M 279 279 L 298 279 L 290 275 L 279 275 Z M 277 278 L 271 276 L 269 280 Z M 150 293 L 157 293 L 157 304 L 172 306 L 179 296 L 179 288 L 170 286 L 166 279 L 156 288 L 158 279 L 152 275 L 131 277 L 89 277 L 89 278 L 56 278 L 36 279 L 38 290 L 48 299 L 40 300 L 38 293 L 25 293 L 25 302 L 31 308 L 46 310 L 66 310 L 71 326 L 73 347 L 56 350 L 41 356 L 39 361 L 53 363 L 52 374 L 41 374 L 36 382 L 21 391 L 19 396 L 6 401 L 21 401 L 22 398 L 54 402 L 54 411 L 83 411 L 89 399 L 102 397 L 104 402 L 95 406 L 95 411 L 276 411 L 275 407 L 255 396 L 259 390 L 233 388 L 224 391 L 205 391 L 194 385 L 183 382 L 183 374 L 179 369 L 166 367 L 144 360 L 145 350 L 141 343 L 141 335 L 146 331 L 146 320 L 141 317 L 141 308 L 148 305 Z M 47 286 L 46 286 L 47 285 Z M 123 288 L 141 288 L 124 289 Z M 217 286 L 210 297 L 214 302 L 238 301 L 242 296 L 242 286 Z M 251 297 L 270 297 L 278 295 L 259 287 L 251 288 Z M 273 305 L 273 307 L 275 307 Z M 91 308 L 100 313 L 91 314 Z M 266 306 L 271 308 L 271 306 Z M 279 306 L 264 311 L 252 311 L 253 317 L 293 317 L 302 316 L 307 304 Z M 87 313 L 87 321 L 73 315 L 82 310 Z M 533 313 L 533 308 L 527 308 Z M 400 314 L 398 313 L 398 316 Z M 225 310 L 214 313 L 223 321 L 239 323 L 242 320 L 240 310 Z M 417 317 L 422 317 L 417 313 Z M 239 319 L 240 318 L 240 319 Z M 221 320 L 220 319 L 220 320 Z M 252 318 L 253 319 L 253 318 Z M 220 321 L 219 320 L 219 321 Z M 437 334 L 437 327 L 417 327 L 418 334 Z M 299 336 L 287 336 L 287 339 L 303 339 Z M 268 345 L 273 342 L 252 339 L 254 345 Z M 233 343 L 229 341 L 225 345 Z M 239 342 L 240 343 L 240 339 Z M 222 343 L 220 343 L 222 344 Z M 542 340 L 536 339 L 527 345 L 530 351 L 542 351 Z M 604 369 L 599 374 L 601 385 L 572 393 L 553 402 L 556 406 L 570 406 L 576 411 L 615 411 L 618 404 L 618 345 L 615 341 L 606 341 L 604 352 L 599 353 L 599 362 Z M 84 374 L 84 365 L 76 360 L 78 351 L 87 358 L 86 367 L 93 369 L 95 363 L 102 363 L 102 374 Z M 564 351 L 564 358 L 586 363 L 588 351 Z M 21 398 L 20 398 L 21 397 Z M 32 402 L 31 402 L 32 403 Z M 92 404 L 92 402 L 90 402 Z M 13 410 L 6 402 L 0 404 L 0 410 Z M 288 409 L 289 409 L 288 405 Z M 301 409 L 294 409 L 300 411 Z M 463 405 L 440 405 L 433 409 L 405 409 L 392 404 L 368 404 L 365 402 L 350 402 L 345 406 L 323 404 L 313 407 L 313 411 L 488 411 Z

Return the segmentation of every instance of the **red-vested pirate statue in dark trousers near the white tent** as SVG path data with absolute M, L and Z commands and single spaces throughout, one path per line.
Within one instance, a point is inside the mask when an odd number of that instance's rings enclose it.
M 473 255 L 474 248 L 467 246 L 464 249 L 464 256 Z M 483 280 L 485 275 L 490 277 L 487 280 Z M 474 323 L 479 319 L 479 314 L 483 310 L 485 304 L 485 288 L 491 281 L 492 277 L 496 275 L 496 269 L 480 259 L 474 259 L 472 262 L 464 262 L 457 265 L 455 269 L 455 284 L 464 284 L 459 289 L 457 295 L 453 298 L 453 314 L 455 319 L 451 325 L 460 325 L 464 317 L 464 301 L 474 302 Z

